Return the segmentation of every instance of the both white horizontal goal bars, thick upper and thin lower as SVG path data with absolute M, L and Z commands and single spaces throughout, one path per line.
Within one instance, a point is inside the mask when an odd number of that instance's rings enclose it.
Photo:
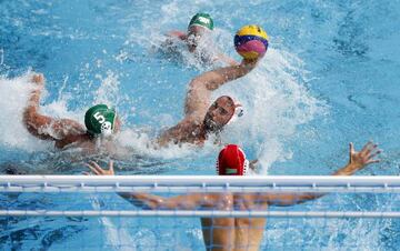
M 0 192 L 400 193 L 400 177 L 0 175 Z M 396 194 L 397 195 L 397 194 Z M 400 211 L 0 210 L 0 217 L 400 218 Z

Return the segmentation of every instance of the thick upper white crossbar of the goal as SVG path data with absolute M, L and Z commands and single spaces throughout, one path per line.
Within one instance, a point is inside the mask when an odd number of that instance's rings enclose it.
M 400 177 L 0 175 L 0 192 L 399 193 Z

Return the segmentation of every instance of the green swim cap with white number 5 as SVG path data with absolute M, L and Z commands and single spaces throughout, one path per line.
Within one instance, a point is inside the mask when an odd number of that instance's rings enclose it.
M 107 104 L 91 107 L 84 114 L 84 126 L 91 134 L 111 135 L 117 112 Z

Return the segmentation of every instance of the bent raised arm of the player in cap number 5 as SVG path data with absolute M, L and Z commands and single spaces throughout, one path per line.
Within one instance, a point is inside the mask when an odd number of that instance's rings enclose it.
M 39 111 L 39 101 L 44 88 L 43 74 L 33 74 L 31 82 L 34 90 L 30 93 L 28 104 L 23 111 L 23 123 L 28 131 L 43 140 L 62 140 L 69 135 L 79 135 L 86 132 L 77 121 L 69 119 L 53 119 Z

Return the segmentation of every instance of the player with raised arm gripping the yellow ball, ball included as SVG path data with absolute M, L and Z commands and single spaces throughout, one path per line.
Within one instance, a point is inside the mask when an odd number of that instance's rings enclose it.
M 260 27 L 243 27 L 239 32 L 241 34 L 249 33 L 241 40 L 242 44 L 247 44 L 243 50 L 248 52 L 241 53 L 242 62 L 239 66 L 204 72 L 190 82 L 184 104 L 184 118 L 160 135 L 158 139 L 160 145 L 170 142 L 202 144 L 210 134 L 220 132 L 226 124 L 242 114 L 241 104 L 228 96 L 218 98 L 211 104 L 212 91 L 249 73 L 267 51 L 268 43 L 263 51 L 250 53 L 256 50 L 250 43 L 251 41 L 264 38 L 267 40 L 268 38 L 266 31 Z

